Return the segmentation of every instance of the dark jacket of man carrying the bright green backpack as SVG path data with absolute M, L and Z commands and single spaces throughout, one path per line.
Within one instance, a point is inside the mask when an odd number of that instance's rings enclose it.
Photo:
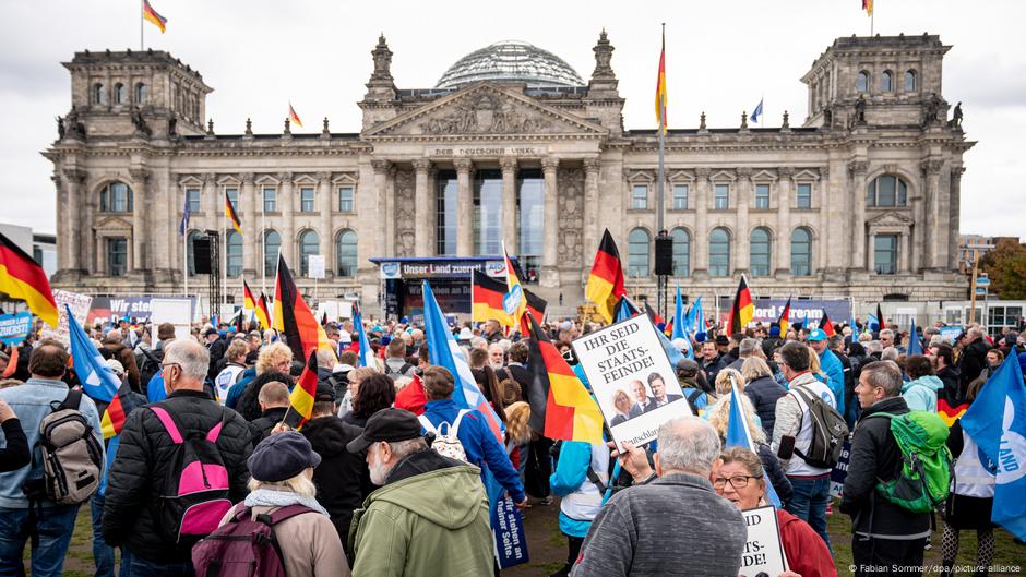
M 891 434 L 891 420 L 872 417 L 881 412 L 905 414 L 908 405 L 902 397 L 892 397 L 862 410 L 851 438 L 840 510 L 851 517 L 851 532 L 856 536 L 927 537 L 930 534 L 929 513 L 908 512 L 876 494 L 878 481 L 894 479 L 902 467 L 902 450 Z

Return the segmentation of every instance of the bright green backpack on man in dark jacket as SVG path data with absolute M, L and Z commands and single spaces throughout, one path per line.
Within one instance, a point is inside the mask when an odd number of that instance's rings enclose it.
M 935 412 L 906 414 L 880 412 L 871 417 L 891 419 L 891 434 L 902 450 L 902 469 L 890 481 L 879 481 L 876 493 L 912 513 L 933 510 L 951 490 L 951 452 L 947 425 Z

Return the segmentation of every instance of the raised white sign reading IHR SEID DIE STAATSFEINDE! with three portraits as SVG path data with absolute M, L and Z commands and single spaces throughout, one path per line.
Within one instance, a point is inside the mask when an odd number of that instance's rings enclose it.
M 666 421 L 691 414 L 647 315 L 589 333 L 572 346 L 617 446 L 644 445 Z

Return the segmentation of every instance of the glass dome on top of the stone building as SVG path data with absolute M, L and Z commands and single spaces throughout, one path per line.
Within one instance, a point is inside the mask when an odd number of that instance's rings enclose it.
M 526 82 L 529 88 L 585 84 L 570 64 L 552 52 L 506 40 L 461 58 L 442 74 L 436 88 L 456 88 L 480 81 Z

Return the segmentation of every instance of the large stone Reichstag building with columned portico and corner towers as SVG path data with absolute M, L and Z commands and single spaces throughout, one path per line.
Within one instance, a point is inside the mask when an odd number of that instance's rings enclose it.
M 706 127 L 701 111 L 696 128 L 671 127 L 670 286 L 708 300 L 732 294 L 745 273 L 756 296 L 963 299 L 958 205 L 974 143 L 943 97 L 950 48 L 931 35 L 837 38 L 801 77 L 808 111 L 791 111 L 795 125 L 785 115 L 751 128 L 739 110 L 728 127 Z M 592 50 L 587 80 L 508 41 L 470 52 L 434 87 L 401 89 L 381 37 L 360 132 L 324 119 L 275 134 L 249 122 L 216 132 L 213 88 L 167 52 L 77 52 L 64 63 L 71 108 L 43 153 L 58 197 L 53 285 L 181 293 L 184 271 L 194 275 L 183 240 L 213 229 L 236 302 L 240 274 L 272 285 L 281 250 L 305 289 L 310 256 L 323 255 L 320 296 L 358 294 L 374 310 L 402 271 L 384 263 L 496 256 L 504 242 L 532 290 L 569 310 L 608 228 L 631 294 L 654 300 L 657 130 L 624 128 L 605 32 Z M 242 235 L 226 227 L 226 195 Z M 189 283 L 206 290 L 204 275 Z

